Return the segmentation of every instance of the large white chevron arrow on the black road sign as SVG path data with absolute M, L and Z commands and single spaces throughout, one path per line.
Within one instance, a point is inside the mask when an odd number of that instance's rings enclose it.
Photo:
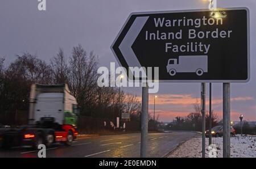
M 147 22 L 148 18 L 149 16 L 137 17 L 131 25 L 129 31 L 126 33 L 125 38 L 123 38 L 122 43 L 119 45 L 119 49 L 123 54 L 126 63 L 130 67 L 141 67 L 138 58 L 133 52 L 133 49 L 131 49 L 131 46 L 139 35 L 139 32 L 141 32 L 141 29 L 144 27 L 144 24 Z

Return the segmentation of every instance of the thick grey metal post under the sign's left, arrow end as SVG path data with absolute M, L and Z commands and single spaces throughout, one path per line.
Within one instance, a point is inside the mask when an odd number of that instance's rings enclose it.
M 141 112 L 141 158 L 147 156 L 147 127 L 148 127 L 148 86 L 142 87 L 142 112 Z

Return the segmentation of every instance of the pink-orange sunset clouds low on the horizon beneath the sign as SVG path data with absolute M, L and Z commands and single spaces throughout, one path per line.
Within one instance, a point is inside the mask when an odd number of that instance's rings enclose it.
M 232 102 L 246 102 L 248 100 L 254 100 L 251 96 L 239 96 L 233 97 L 230 99 Z M 193 97 L 192 95 L 184 94 L 184 95 L 177 95 L 177 94 L 161 94 L 157 95 L 155 99 L 155 114 L 156 116 L 159 115 L 160 121 L 172 121 L 176 116 L 187 116 L 190 112 L 193 111 L 193 104 L 199 103 L 200 98 Z M 154 95 L 149 96 L 149 104 L 150 108 L 148 112 L 151 116 L 153 116 L 154 109 L 152 109 L 154 105 Z M 207 100 L 207 105 L 209 105 L 209 100 Z M 213 108 L 214 107 L 221 107 L 222 106 L 222 99 L 213 99 L 212 100 Z M 168 108 L 170 107 L 170 109 Z M 253 111 L 256 109 L 255 107 L 250 107 L 250 110 Z M 214 113 L 217 114 L 218 120 L 222 119 L 222 111 L 218 109 L 214 109 Z M 240 112 L 233 110 L 231 112 L 231 120 L 238 121 L 238 117 L 240 114 L 245 112 Z M 255 120 L 254 113 L 246 113 L 247 120 Z M 246 120 L 245 119 L 245 120 Z

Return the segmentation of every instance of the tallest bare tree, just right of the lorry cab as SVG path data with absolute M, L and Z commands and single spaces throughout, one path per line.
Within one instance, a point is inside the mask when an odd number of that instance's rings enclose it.
M 90 112 L 97 95 L 97 57 L 81 45 L 73 47 L 69 61 L 69 86 L 82 112 Z

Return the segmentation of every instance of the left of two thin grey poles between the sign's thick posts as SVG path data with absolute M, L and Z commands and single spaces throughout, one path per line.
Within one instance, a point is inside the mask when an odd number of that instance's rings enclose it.
M 201 84 L 202 88 L 202 158 L 205 158 L 205 83 Z

